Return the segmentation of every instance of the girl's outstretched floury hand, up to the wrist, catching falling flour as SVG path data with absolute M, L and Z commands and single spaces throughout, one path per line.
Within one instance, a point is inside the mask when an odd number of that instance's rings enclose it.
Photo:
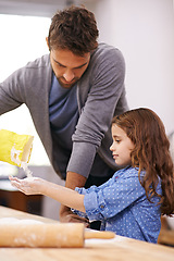
M 20 179 L 17 177 L 10 176 L 9 179 L 11 181 L 13 187 L 16 187 L 25 195 L 41 194 L 41 188 L 46 182 L 39 177 L 26 177 L 24 179 Z

